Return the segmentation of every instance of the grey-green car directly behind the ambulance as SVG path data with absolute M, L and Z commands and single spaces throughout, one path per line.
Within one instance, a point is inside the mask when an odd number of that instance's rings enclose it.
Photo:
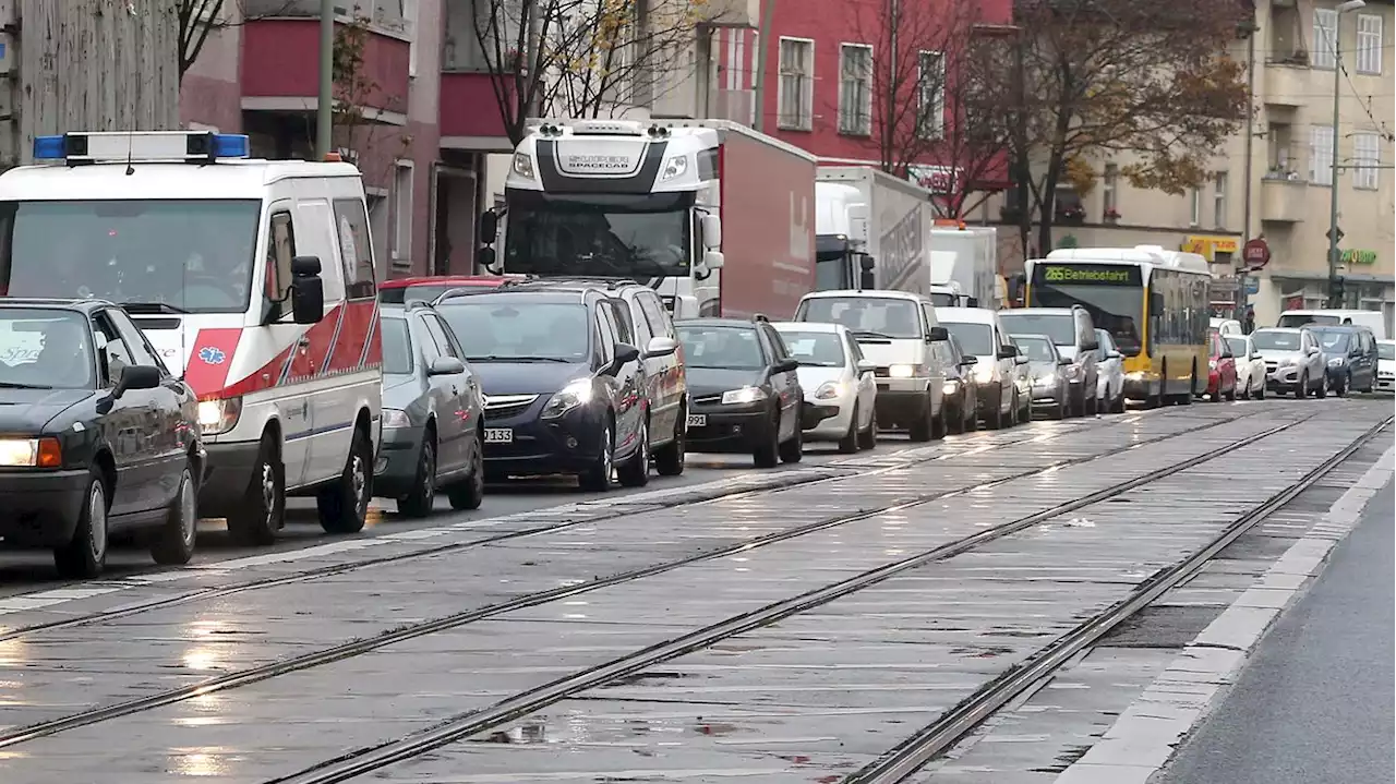
M 429 304 L 383 306 L 383 449 L 373 490 L 424 518 L 484 499 L 484 402 L 455 333 Z

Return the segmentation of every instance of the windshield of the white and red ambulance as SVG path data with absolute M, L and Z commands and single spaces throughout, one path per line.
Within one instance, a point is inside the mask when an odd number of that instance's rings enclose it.
M 0 293 L 243 312 L 258 199 L 0 202 Z

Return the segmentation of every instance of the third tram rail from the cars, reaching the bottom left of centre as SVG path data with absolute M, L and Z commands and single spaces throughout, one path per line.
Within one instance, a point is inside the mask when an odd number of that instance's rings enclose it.
M 385 741 L 373 746 L 350 751 L 345 755 L 320 762 L 297 773 L 272 778 L 267 784 L 335 784 L 339 781 L 348 781 L 350 778 L 356 778 L 359 776 L 381 770 L 391 764 L 433 752 L 445 745 L 479 737 L 491 731 L 497 731 L 504 725 L 510 724 L 511 721 L 517 721 L 522 717 L 533 714 L 558 702 L 577 698 L 584 692 L 602 688 L 609 684 L 614 684 L 623 678 L 639 674 L 651 667 L 676 660 L 678 657 L 699 650 L 709 649 L 713 644 L 718 644 L 737 635 L 743 635 L 755 629 L 769 626 L 772 624 L 778 624 L 793 615 L 799 615 L 812 608 L 829 604 L 835 600 L 852 596 L 860 590 L 882 583 L 907 571 L 933 562 L 945 561 L 956 555 L 973 551 L 979 547 L 983 547 L 984 544 L 1027 530 L 1047 520 L 1055 519 L 1061 515 L 1082 509 L 1085 506 L 1090 506 L 1093 504 L 1099 504 L 1101 501 L 1107 501 L 1110 498 L 1129 492 L 1131 490 L 1139 488 L 1142 485 L 1171 477 L 1184 470 L 1223 458 L 1227 453 L 1233 452 L 1234 449 L 1244 448 L 1256 444 L 1259 441 L 1263 441 L 1266 438 L 1270 438 L 1273 435 L 1277 435 L 1280 432 L 1284 432 L 1290 428 L 1294 428 L 1308 421 L 1309 419 L 1312 419 L 1312 416 L 1279 424 L 1265 431 L 1233 441 L 1224 446 L 1210 449 L 1202 455 L 1184 459 L 1174 465 L 1149 472 L 1143 476 L 1138 476 L 1113 484 L 1107 488 L 1078 497 L 1075 499 L 1057 504 L 1048 509 L 1043 509 L 1040 512 L 1034 512 L 1032 515 L 1026 515 L 1015 520 L 1009 520 L 998 526 L 984 529 L 974 534 L 956 538 L 951 543 L 945 543 L 942 545 L 926 550 L 912 557 L 864 571 L 859 575 L 839 580 L 836 583 L 826 585 L 780 601 L 775 601 L 758 610 L 730 617 L 727 619 L 719 621 L 716 624 L 697 629 L 694 632 L 688 632 L 685 635 L 680 635 L 677 638 L 671 638 L 669 640 L 637 650 L 627 656 L 613 658 L 607 663 L 579 670 L 577 672 L 554 679 L 542 686 L 515 693 L 514 696 L 496 702 L 489 707 L 466 711 L 455 717 L 447 718 L 427 730 L 412 732 L 398 739 Z M 1326 470 L 1330 470 L 1333 466 L 1340 463 L 1342 459 L 1346 459 L 1347 455 L 1350 455 L 1353 451 L 1360 448 L 1361 444 L 1364 444 L 1367 439 L 1379 432 L 1388 423 L 1383 423 L 1382 425 L 1372 428 L 1362 438 L 1360 438 L 1357 442 L 1354 442 L 1347 449 L 1340 452 L 1337 456 L 1335 456 L 1330 460 L 1326 460 L 1323 463 L 1325 470 L 1315 470 L 1312 474 L 1305 477 L 1305 481 L 1300 483 L 1300 490 L 1295 490 L 1293 492 L 1290 491 L 1282 492 L 1279 497 L 1272 498 L 1272 501 L 1268 501 L 1263 505 L 1263 509 L 1277 508 L 1279 505 L 1287 502 L 1290 498 L 1293 498 L 1293 495 L 1302 491 L 1304 487 L 1308 487 L 1318 477 L 1326 473 Z M 1259 519 L 1256 516 L 1258 513 L 1259 512 L 1252 511 L 1245 516 L 1245 519 L 1258 520 Z M 1251 525 L 1254 525 L 1254 522 Z M 1237 529 L 1237 525 L 1228 527 L 1228 530 L 1233 529 Z M 1234 533 L 1234 536 L 1240 536 L 1241 532 L 1244 532 L 1244 529 L 1238 529 L 1237 533 Z M 1210 555 L 1208 555 L 1206 558 L 1210 558 Z M 1192 561 L 1194 558 L 1188 559 L 1188 562 Z M 1205 559 L 1202 562 L 1205 562 Z M 1153 586 L 1163 583 L 1159 583 L 1156 579 L 1149 585 Z

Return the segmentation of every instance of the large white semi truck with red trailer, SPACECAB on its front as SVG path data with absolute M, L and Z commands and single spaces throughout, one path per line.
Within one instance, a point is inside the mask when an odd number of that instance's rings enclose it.
M 479 258 L 631 278 L 674 318 L 789 317 L 814 287 L 814 174 L 812 155 L 725 120 L 542 120 L 503 212 L 482 216 Z

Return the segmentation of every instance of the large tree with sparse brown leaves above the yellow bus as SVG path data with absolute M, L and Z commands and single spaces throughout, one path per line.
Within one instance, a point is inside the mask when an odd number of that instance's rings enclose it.
M 1249 110 L 1244 66 L 1228 50 L 1252 11 L 1215 0 L 1018 0 L 1007 92 L 1026 209 L 1023 246 L 1053 247 L 1057 188 L 1089 188 L 1089 160 L 1127 155 L 1136 187 L 1181 194 Z

